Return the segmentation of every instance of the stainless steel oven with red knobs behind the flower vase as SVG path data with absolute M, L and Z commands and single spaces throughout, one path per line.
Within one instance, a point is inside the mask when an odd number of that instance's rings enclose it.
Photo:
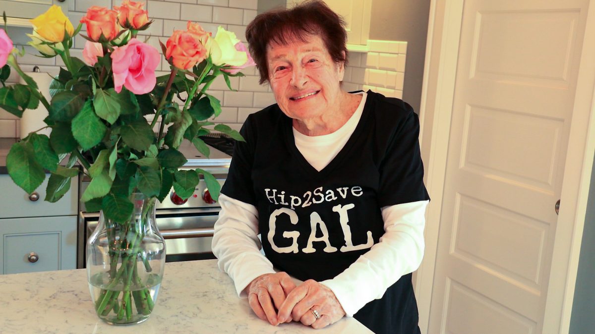
M 211 150 L 210 159 L 202 157 L 194 147 L 186 141 L 180 147 L 180 152 L 186 156 L 186 169 L 201 168 L 211 172 L 223 185 L 227 177 L 231 157 L 218 150 Z M 79 194 L 88 185 L 83 179 Z M 86 212 L 84 203 L 79 204 L 79 226 L 77 238 L 77 268 L 84 268 L 86 262 L 86 241 L 92 234 L 99 220 L 98 212 Z M 195 188 L 195 193 L 186 201 L 181 201 L 174 193 L 162 203 L 156 204 L 156 222 L 159 231 L 165 238 L 165 261 L 188 261 L 215 259 L 211 251 L 213 226 L 217 220 L 221 207 L 212 200 L 205 182 Z

